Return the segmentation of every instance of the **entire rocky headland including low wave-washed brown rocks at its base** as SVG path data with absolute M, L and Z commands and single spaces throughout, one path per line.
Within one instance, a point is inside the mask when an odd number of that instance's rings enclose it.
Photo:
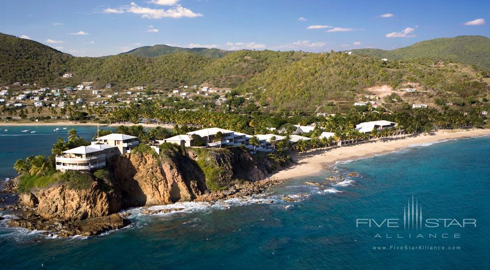
M 98 176 L 89 188 L 71 189 L 57 183 L 20 194 L 19 202 L 24 206 L 15 209 L 23 212 L 19 219 L 8 224 L 53 231 L 62 236 L 90 236 L 128 224 L 128 220 L 115 214 L 126 207 L 249 196 L 277 182 L 259 181 L 278 166 L 268 159 L 257 160 L 246 149 L 205 151 L 198 154 L 191 148 L 187 152 L 174 150 L 162 155 L 114 156 L 109 162 L 110 173 L 106 177 Z M 204 165 L 200 158 L 205 160 Z M 228 190 L 209 192 L 202 169 L 206 165 L 219 168 L 217 181 Z

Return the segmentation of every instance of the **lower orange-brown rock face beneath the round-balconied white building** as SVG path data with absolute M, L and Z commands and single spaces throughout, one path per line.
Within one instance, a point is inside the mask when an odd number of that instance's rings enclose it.
M 19 196 L 21 204 L 37 206 L 44 219 L 86 220 L 107 216 L 121 210 L 121 199 L 115 191 L 104 191 L 98 181 L 88 189 L 68 189 L 64 185 L 38 189 Z

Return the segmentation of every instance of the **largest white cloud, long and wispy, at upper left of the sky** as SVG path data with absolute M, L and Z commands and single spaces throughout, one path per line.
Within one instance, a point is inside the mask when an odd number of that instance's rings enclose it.
M 156 0 L 156 2 L 161 3 L 176 3 L 175 0 Z M 185 8 L 181 5 L 171 7 L 167 10 L 159 8 L 150 8 L 137 5 L 135 2 L 131 2 L 129 5 L 124 5 L 119 8 L 106 8 L 102 10 L 102 13 L 133 13 L 140 15 L 141 18 L 145 19 L 161 19 L 161 18 L 195 18 L 202 17 L 201 13 L 195 13 L 194 11 Z

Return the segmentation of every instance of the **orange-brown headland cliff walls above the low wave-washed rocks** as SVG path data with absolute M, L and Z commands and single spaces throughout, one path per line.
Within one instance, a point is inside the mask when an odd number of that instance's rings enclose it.
M 160 154 L 146 150 L 115 156 L 108 164 L 107 171 L 93 173 L 88 188 L 55 183 L 20 194 L 20 204 L 33 208 L 38 221 L 84 221 L 128 207 L 219 198 L 230 192 L 223 190 L 236 191 L 279 169 L 267 157 L 252 156 L 241 147 L 183 150 L 170 146 Z M 246 189 L 242 192 L 247 194 Z

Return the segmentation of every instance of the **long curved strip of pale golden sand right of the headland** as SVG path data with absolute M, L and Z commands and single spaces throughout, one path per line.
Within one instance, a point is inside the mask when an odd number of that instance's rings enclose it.
M 295 165 L 270 175 L 270 178 L 286 180 L 303 176 L 318 175 L 326 166 L 337 162 L 368 158 L 390 153 L 411 145 L 434 143 L 453 139 L 490 135 L 490 129 L 438 130 L 432 134 L 402 135 L 394 138 L 379 138 L 359 144 L 317 149 L 292 156 Z

